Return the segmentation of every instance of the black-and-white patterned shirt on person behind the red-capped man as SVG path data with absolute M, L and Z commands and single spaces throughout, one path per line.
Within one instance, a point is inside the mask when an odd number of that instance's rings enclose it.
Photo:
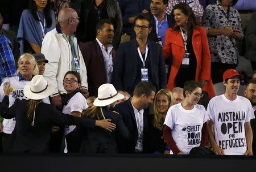
M 236 9 L 230 7 L 229 12 L 225 11 L 220 2 L 208 5 L 204 11 L 203 26 L 210 28 L 223 29 L 225 27 L 238 29 L 243 37 L 240 14 Z M 216 63 L 237 64 L 238 51 L 236 40 L 225 35 L 208 36 L 210 48 L 210 61 Z

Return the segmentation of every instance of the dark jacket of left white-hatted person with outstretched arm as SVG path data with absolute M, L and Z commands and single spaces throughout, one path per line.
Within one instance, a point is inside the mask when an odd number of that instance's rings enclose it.
M 14 152 L 18 153 L 47 153 L 51 140 L 51 127 L 56 125 L 77 125 L 95 127 L 95 120 L 89 118 L 77 118 L 73 115 L 63 114 L 53 105 L 40 103 L 36 106 L 35 124 L 31 125 L 31 119 L 27 118 L 28 100 L 15 100 L 14 105 L 9 106 L 9 97 L 3 97 L 0 104 L 0 113 L 3 118 L 16 119 L 13 134 L 15 134 Z M 12 135 L 13 135 L 12 134 Z

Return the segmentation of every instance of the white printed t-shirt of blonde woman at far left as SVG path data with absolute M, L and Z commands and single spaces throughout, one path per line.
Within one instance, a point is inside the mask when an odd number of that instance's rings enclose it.
M 19 77 L 18 76 L 14 76 L 11 78 L 8 78 L 11 86 L 14 87 L 15 89 L 15 94 L 10 94 L 9 95 L 9 108 L 14 104 L 15 99 L 19 98 L 19 100 L 28 100 L 28 98 L 24 95 L 24 86 L 29 83 L 30 81 L 26 81 L 26 80 L 20 80 L 19 81 Z M 6 80 L 3 80 L 1 86 L 0 86 L 0 102 L 3 101 L 3 97 L 5 97 L 5 93 L 3 92 L 3 84 L 6 82 Z M 44 98 L 43 100 L 44 103 L 49 104 L 49 98 Z M 16 123 L 16 119 L 15 118 L 11 118 L 11 119 L 3 119 L 3 132 L 6 134 L 11 134 L 14 130 L 15 127 L 15 123 Z

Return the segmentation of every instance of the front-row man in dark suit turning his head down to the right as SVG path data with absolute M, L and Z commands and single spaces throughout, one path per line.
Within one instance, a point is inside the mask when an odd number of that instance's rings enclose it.
M 148 153 L 148 106 L 155 97 L 154 86 L 142 81 L 139 83 L 131 99 L 116 105 L 114 110 L 122 115 L 130 137 L 128 140 L 117 139 L 119 153 Z

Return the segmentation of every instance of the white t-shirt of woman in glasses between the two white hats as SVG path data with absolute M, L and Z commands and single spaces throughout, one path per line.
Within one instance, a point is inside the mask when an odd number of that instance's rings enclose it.
M 68 104 L 63 107 L 62 113 L 72 115 L 72 111 L 79 111 L 82 113 L 82 109 L 87 109 L 88 105 L 86 103 L 85 97 L 81 93 L 76 93 L 68 101 Z M 72 132 L 76 126 L 65 126 L 65 135 Z

